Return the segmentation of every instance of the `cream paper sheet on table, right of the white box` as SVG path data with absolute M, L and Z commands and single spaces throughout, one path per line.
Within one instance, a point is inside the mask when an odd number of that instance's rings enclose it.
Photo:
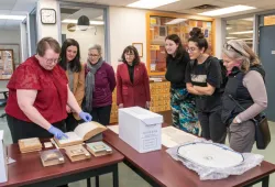
M 174 147 L 188 142 L 194 142 L 196 139 L 198 138 L 174 127 L 162 129 L 162 144 L 166 147 Z

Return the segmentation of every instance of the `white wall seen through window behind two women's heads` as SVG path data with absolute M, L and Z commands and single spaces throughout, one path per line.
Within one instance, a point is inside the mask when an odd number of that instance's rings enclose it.
M 88 48 L 94 44 L 99 44 L 102 47 L 102 56 L 105 56 L 105 26 L 97 25 L 97 32 L 95 28 L 87 31 L 69 32 L 67 24 L 62 24 L 62 34 L 66 34 L 66 38 L 74 38 L 80 45 L 81 62 L 86 62 L 88 57 Z M 96 35 L 95 35 L 96 32 Z

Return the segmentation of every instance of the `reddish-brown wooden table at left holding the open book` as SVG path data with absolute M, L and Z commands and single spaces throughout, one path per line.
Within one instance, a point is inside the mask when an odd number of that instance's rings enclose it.
M 72 163 L 65 151 L 65 163 L 55 166 L 43 167 L 38 152 L 21 154 L 18 144 L 8 146 L 8 155 L 15 163 L 8 165 L 9 180 L 1 183 L 0 187 L 38 186 L 55 187 L 94 176 L 112 173 L 113 186 L 119 186 L 118 163 L 124 156 L 113 148 L 113 154 L 101 157 Z

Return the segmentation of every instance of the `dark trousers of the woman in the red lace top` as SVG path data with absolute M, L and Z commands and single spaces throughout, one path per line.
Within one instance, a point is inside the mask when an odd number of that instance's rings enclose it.
M 41 128 L 38 124 L 22 121 L 9 114 L 7 114 L 7 121 L 11 131 L 13 143 L 18 143 L 20 139 L 29 139 L 29 138 L 46 139 L 53 136 L 53 134 L 47 132 L 47 130 Z M 53 123 L 53 125 L 62 131 L 65 131 L 64 121 Z

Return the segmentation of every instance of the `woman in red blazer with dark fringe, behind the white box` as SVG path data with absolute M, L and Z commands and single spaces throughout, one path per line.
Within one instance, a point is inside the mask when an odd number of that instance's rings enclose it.
M 117 103 L 119 108 L 139 106 L 150 108 L 150 85 L 146 67 L 140 62 L 134 46 L 124 48 L 123 64 L 117 69 Z

